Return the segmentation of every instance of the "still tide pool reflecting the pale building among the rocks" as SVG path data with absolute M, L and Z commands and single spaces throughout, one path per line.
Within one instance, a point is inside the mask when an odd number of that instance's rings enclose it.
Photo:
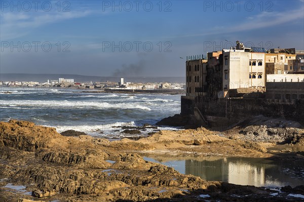
M 200 158 L 183 161 L 158 161 L 172 166 L 183 174 L 199 176 L 204 180 L 266 187 L 297 186 L 304 183 L 304 162 L 272 161 L 262 158 Z M 158 159 L 158 158 L 156 158 Z

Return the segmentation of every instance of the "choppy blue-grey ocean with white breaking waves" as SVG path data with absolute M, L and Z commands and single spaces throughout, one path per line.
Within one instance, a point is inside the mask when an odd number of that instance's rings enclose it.
M 12 93 L 4 93 L 10 91 Z M 122 138 L 123 126 L 154 125 L 180 113 L 180 96 L 171 94 L 94 93 L 68 88 L 0 89 L 0 121 L 27 120 L 55 127 L 58 132 L 77 130 L 105 138 Z M 140 135 L 171 127 L 147 128 Z M 134 136 L 134 135 L 132 135 Z

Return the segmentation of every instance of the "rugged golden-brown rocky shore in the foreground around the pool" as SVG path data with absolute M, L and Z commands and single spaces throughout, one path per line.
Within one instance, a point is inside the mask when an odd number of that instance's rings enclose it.
M 291 195 L 304 195 L 304 186 L 283 187 L 278 193 L 264 187 L 205 181 L 141 156 L 276 156 L 267 147 L 277 142 L 244 138 L 246 131 L 256 133 L 247 126 L 236 127 L 226 132 L 203 127 L 159 131 L 138 140 L 109 141 L 75 131 L 64 136 L 55 128 L 26 121 L 0 122 L 0 201 L 304 200 Z M 278 142 L 290 139 L 289 144 L 303 145 L 302 129 L 284 131 L 286 138 L 279 135 L 282 131 L 274 132 L 281 138 Z M 300 153 L 294 155 L 295 160 L 303 160 Z

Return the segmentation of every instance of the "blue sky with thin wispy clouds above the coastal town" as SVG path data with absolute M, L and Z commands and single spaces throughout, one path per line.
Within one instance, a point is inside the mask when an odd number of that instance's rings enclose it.
M 184 76 L 237 40 L 304 50 L 304 1 L 0 0 L 0 73 Z

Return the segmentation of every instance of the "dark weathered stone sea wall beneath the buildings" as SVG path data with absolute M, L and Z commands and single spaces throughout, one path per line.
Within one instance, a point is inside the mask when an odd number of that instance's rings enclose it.
M 213 100 L 204 97 L 181 98 L 181 114 L 193 114 L 194 107 L 200 109 L 207 118 L 208 116 L 226 118 L 227 125 L 257 115 L 283 117 L 304 125 L 304 100 L 300 99 L 293 103 L 278 103 L 263 98 L 219 98 Z

